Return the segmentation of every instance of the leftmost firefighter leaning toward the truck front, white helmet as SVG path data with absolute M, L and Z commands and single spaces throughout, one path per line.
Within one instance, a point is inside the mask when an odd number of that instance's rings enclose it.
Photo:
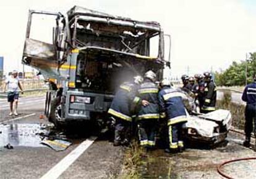
M 136 76 L 134 82 L 124 82 L 119 86 L 108 113 L 115 119 L 114 146 L 128 145 L 132 123 L 132 106 L 140 103 L 137 89 L 143 78 Z

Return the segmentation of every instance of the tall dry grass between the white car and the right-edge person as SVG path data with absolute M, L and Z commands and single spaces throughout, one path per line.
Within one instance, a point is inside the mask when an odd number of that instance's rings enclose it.
M 232 125 L 237 129 L 244 129 L 244 105 L 238 105 L 235 103 L 231 103 L 231 93 L 224 92 L 223 99 L 217 102 L 217 108 L 228 109 L 232 114 Z

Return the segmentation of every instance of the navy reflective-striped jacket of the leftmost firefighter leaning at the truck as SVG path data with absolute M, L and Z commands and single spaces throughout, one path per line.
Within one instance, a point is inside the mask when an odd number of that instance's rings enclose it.
M 115 117 L 119 117 L 120 119 L 132 121 L 131 106 L 136 105 L 140 101 L 140 98 L 136 96 L 137 89 L 138 86 L 131 82 L 124 82 L 121 84 L 111 103 L 108 113 Z

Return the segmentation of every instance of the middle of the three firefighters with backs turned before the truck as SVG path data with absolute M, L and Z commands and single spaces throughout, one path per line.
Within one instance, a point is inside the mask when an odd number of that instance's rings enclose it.
M 140 146 L 147 149 L 153 149 L 155 147 L 156 126 L 160 117 L 158 86 L 155 84 L 155 79 L 156 74 L 151 70 L 147 71 L 139 89 L 139 97 L 142 100 L 142 106 L 137 114 L 137 125 L 139 129 Z M 143 103 L 143 101 L 148 101 L 148 103 Z

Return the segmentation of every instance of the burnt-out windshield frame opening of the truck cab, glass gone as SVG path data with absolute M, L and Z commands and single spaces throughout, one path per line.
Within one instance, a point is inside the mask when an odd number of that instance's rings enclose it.
M 97 28 L 100 27 L 102 31 L 94 29 L 93 27 L 96 25 Z M 161 31 L 160 26 L 145 25 L 135 21 L 132 22 L 119 19 L 110 19 L 107 17 L 92 17 L 84 15 L 72 17 L 69 23 L 69 28 L 72 36 L 72 45 L 75 47 L 95 46 L 108 48 L 105 46 L 99 46 L 95 44 L 92 45 L 90 43 L 84 43 L 81 41 L 79 39 L 79 31 L 84 30 L 86 31 L 84 34 L 90 33 L 91 35 L 95 36 L 95 39 L 108 34 L 108 39 L 117 39 L 119 42 L 119 47 L 122 47 L 122 49 L 115 49 L 113 47 L 109 47 L 109 49 L 118 50 L 120 52 L 129 52 L 131 54 L 145 55 L 148 57 L 150 56 L 150 49 L 146 51 L 143 50 L 143 53 L 138 52 L 137 49 L 149 48 L 150 39 L 155 36 L 159 36 L 158 44 L 155 44 L 158 46 L 158 54 L 155 58 L 160 58 L 161 60 L 164 59 L 164 38 L 163 31 Z M 106 31 L 103 30 L 109 31 L 106 33 Z M 117 43 L 117 41 L 115 42 Z

